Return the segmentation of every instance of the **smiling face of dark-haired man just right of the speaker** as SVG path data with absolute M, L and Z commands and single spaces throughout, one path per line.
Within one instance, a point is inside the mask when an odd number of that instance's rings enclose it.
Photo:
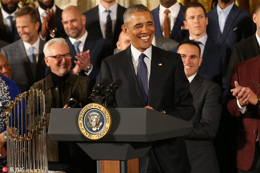
M 177 53 L 181 54 L 186 77 L 189 78 L 196 74 L 202 61 L 198 47 L 191 44 L 182 44 L 179 46 Z

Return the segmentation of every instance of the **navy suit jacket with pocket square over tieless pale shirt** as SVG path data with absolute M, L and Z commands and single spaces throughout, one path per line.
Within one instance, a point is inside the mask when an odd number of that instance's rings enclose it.
M 214 41 L 224 43 L 231 49 L 233 45 L 241 40 L 250 37 L 255 33 L 255 24 L 252 14 L 233 5 L 230 10 L 223 33 L 220 33 L 217 8 L 207 12 L 209 24 L 207 25 L 207 34 Z

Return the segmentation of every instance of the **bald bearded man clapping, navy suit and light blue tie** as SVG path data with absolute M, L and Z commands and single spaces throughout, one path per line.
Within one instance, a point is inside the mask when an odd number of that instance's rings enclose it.
M 72 53 L 73 74 L 88 76 L 95 83 L 101 61 L 113 54 L 109 40 L 95 37 L 86 31 L 86 16 L 79 7 L 68 6 L 62 12 L 62 24 L 68 37 L 65 39 Z

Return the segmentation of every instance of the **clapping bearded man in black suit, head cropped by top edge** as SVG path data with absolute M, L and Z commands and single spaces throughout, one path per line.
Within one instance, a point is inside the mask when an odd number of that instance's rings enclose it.
M 53 37 L 66 38 L 67 35 L 62 25 L 62 9 L 54 5 L 54 0 L 38 0 L 39 6 L 36 8 L 40 17 L 40 37 L 42 40 L 50 40 Z

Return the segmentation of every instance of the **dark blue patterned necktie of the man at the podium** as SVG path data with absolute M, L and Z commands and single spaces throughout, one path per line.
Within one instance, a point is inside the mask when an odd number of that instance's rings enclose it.
M 140 54 L 139 58 L 139 64 L 137 67 L 137 81 L 139 84 L 139 87 L 141 89 L 141 93 L 143 95 L 144 101 L 147 104 L 148 100 L 148 72 L 147 72 L 147 66 L 144 62 L 144 58 L 146 57 L 145 54 Z

